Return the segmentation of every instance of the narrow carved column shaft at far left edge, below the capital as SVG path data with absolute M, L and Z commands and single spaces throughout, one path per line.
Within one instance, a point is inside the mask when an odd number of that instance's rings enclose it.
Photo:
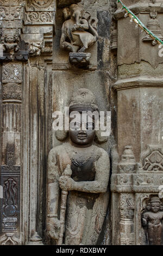
M 2 244 L 13 240 L 6 232 L 15 232 L 20 239 L 20 182 L 21 182 L 21 113 L 22 113 L 22 64 L 3 64 L 2 68 L 2 161 L 1 185 L 3 202 L 1 233 L 7 236 Z M 20 240 L 21 242 L 21 240 Z

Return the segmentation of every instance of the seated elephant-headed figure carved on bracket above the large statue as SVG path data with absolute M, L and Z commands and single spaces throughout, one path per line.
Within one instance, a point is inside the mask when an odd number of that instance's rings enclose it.
M 97 19 L 78 4 L 71 4 L 63 10 L 65 22 L 62 25 L 60 47 L 70 52 L 84 52 L 98 39 Z M 70 19 L 69 19 L 70 18 Z

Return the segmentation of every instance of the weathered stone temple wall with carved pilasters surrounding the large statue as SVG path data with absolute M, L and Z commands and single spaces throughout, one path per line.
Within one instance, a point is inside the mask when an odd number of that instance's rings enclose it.
M 62 10 L 72 3 L 98 19 L 98 40 L 85 50 L 91 53 L 90 60 L 90 54 L 82 60 L 88 65 L 80 67 L 74 64 L 78 57 L 70 54 L 69 59 L 60 47 Z M 162 0 L 123 3 L 162 39 Z M 109 140 L 93 142 L 109 154 L 111 163 L 104 205 L 109 204 L 97 243 L 163 244 L 163 59 L 156 42 L 140 27 L 135 29 L 114 0 L 0 4 L 0 244 L 55 244 L 47 235 L 47 215 L 54 217 L 47 210 L 47 162 L 51 149 L 69 139 L 55 133 L 52 116 L 64 111 L 80 88 L 96 96 L 99 111 L 111 111 Z M 154 211 L 157 239 L 149 230 Z

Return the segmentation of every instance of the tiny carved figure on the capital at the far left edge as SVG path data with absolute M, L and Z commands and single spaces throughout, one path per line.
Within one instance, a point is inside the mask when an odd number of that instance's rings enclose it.
M 4 51 L 9 52 L 11 55 L 20 50 L 20 47 L 18 46 L 18 42 L 20 40 L 17 32 L 14 33 L 14 31 L 11 31 L 11 29 L 6 30 L 5 33 L 2 34 L 1 40 Z

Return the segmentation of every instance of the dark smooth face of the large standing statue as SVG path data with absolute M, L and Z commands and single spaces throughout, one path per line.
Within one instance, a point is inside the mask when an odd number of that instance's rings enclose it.
M 86 145 L 91 145 L 93 139 L 95 138 L 95 121 L 83 123 L 84 129 L 82 130 L 82 121 L 76 121 L 70 118 L 70 130 L 69 136 L 71 141 L 82 147 Z

